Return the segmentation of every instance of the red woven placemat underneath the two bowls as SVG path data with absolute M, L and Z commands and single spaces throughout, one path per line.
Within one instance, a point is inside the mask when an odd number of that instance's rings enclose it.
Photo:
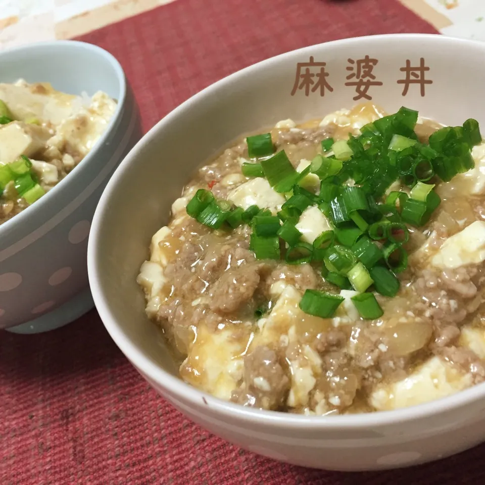
M 177 0 L 85 35 L 123 65 L 150 128 L 221 77 L 327 40 L 434 32 L 397 0 Z M 247 453 L 151 390 L 98 314 L 47 334 L 0 333 L 0 484 L 478 484 L 485 447 L 399 472 L 344 474 Z

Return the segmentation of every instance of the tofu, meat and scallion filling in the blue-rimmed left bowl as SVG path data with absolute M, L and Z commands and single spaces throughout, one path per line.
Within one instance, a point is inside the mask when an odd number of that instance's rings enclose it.
M 0 225 L 56 186 L 108 128 L 117 102 L 56 91 L 51 83 L 0 82 Z

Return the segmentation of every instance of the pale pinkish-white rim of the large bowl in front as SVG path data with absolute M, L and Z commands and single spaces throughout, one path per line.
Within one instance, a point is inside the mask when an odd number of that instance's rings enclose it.
M 123 328 L 118 324 L 116 318 L 111 313 L 107 299 L 104 296 L 103 288 L 100 284 L 98 276 L 98 268 L 100 267 L 101 255 L 99 254 L 99 231 L 98 228 L 103 223 L 103 219 L 109 213 L 110 196 L 113 189 L 115 189 L 118 182 L 125 176 L 125 172 L 130 165 L 136 163 L 138 152 L 152 142 L 156 138 L 157 133 L 161 131 L 164 126 L 171 123 L 173 118 L 182 114 L 191 103 L 198 101 L 205 96 L 211 95 L 217 91 L 221 86 L 233 82 L 241 74 L 248 75 L 253 71 L 269 67 L 274 62 L 279 62 L 285 57 L 293 56 L 297 53 L 305 53 L 308 50 L 315 49 L 315 47 L 322 47 L 323 49 L 331 49 L 335 44 L 349 44 L 366 42 L 383 42 L 388 39 L 403 39 L 404 41 L 420 41 L 433 42 L 439 46 L 446 47 L 447 44 L 461 44 L 466 46 L 476 46 L 485 53 L 485 43 L 460 39 L 456 37 L 447 37 L 438 34 L 378 34 L 370 36 L 352 37 L 346 39 L 333 40 L 320 44 L 314 44 L 293 51 L 289 51 L 269 59 L 260 61 L 244 69 L 236 71 L 215 83 L 209 85 L 203 90 L 199 91 L 189 99 L 178 105 L 174 110 L 168 113 L 158 123 L 156 123 L 133 147 L 130 153 L 125 157 L 121 164 L 117 167 L 115 173 L 109 180 L 103 195 L 99 201 L 98 207 L 94 213 L 91 225 L 91 232 L 88 240 L 87 250 L 87 265 L 88 276 L 91 292 L 93 295 L 96 309 L 99 312 L 101 320 L 105 325 L 108 333 L 112 337 L 115 344 L 119 347 L 122 353 L 128 358 L 131 364 L 149 381 L 155 382 L 162 389 L 167 390 L 170 395 L 169 399 L 178 400 L 183 403 L 190 403 L 193 407 L 201 408 L 208 406 L 209 410 L 223 416 L 228 421 L 243 421 L 251 423 L 259 423 L 262 425 L 272 425 L 278 427 L 291 427 L 294 429 L 305 429 L 312 427 L 315 429 L 363 429 L 372 427 L 383 427 L 386 425 L 393 425 L 397 423 L 404 423 L 414 421 L 420 418 L 426 418 L 431 415 L 446 413 L 464 407 L 472 402 L 478 401 L 485 397 L 485 383 L 476 384 L 468 389 L 457 392 L 451 396 L 440 398 L 427 403 L 410 406 L 407 408 L 400 408 L 390 411 L 376 411 L 371 413 L 347 414 L 347 415 L 327 415 L 327 416 L 306 416 L 300 414 L 284 413 L 280 411 L 266 411 L 260 409 L 250 409 L 239 404 L 224 401 L 216 398 L 204 391 L 193 387 L 184 382 L 177 376 L 165 371 L 160 365 L 153 362 L 141 349 L 134 345 Z M 464 417 L 461 417 L 464 420 Z

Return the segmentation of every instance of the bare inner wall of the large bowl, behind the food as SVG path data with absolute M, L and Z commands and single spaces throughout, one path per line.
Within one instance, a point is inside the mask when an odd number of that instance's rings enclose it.
M 326 89 L 292 95 L 298 63 L 325 62 Z M 392 113 L 401 106 L 446 124 L 476 118 L 485 126 L 485 44 L 431 35 L 391 35 L 348 39 L 307 47 L 265 61 L 210 86 L 154 127 L 128 155 L 108 184 L 96 212 L 89 241 L 88 265 L 96 306 L 118 345 L 138 367 L 144 359 L 177 374 L 160 332 L 144 315 L 144 298 L 135 282 L 148 258 L 152 235 L 168 222 L 171 203 L 201 163 L 234 138 L 273 126 L 325 116 L 351 108 L 355 86 L 346 69 L 369 56 L 376 59 L 375 81 L 368 94 Z M 429 70 L 432 83 L 411 83 L 403 95 L 407 61 Z M 356 64 L 353 64 L 356 66 Z M 311 67 L 318 74 L 322 66 Z M 302 73 L 305 66 L 302 67 Z M 410 79 L 419 79 L 409 73 Z M 313 77 L 316 82 L 317 77 Z M 352 81 L 352 80 L 351 80 Z M 122 335 L 122 338 L 119 337 Z M 152 376 L 153 377 L 153 376 Z M 452 398 L 450 398 L 452 399 Z

